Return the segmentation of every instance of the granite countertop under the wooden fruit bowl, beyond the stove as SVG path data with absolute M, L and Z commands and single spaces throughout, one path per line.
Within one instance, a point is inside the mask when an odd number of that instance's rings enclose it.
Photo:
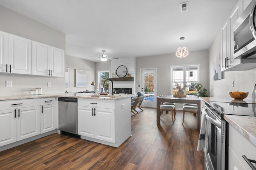
M 245 98 L 244 100 L 234 100 L 230 96 L 227 97 L 200 97 L 201 100 L 206 102 L 233 102 L 233 103 L 255 103 L 252 102 L 252 99 Z

